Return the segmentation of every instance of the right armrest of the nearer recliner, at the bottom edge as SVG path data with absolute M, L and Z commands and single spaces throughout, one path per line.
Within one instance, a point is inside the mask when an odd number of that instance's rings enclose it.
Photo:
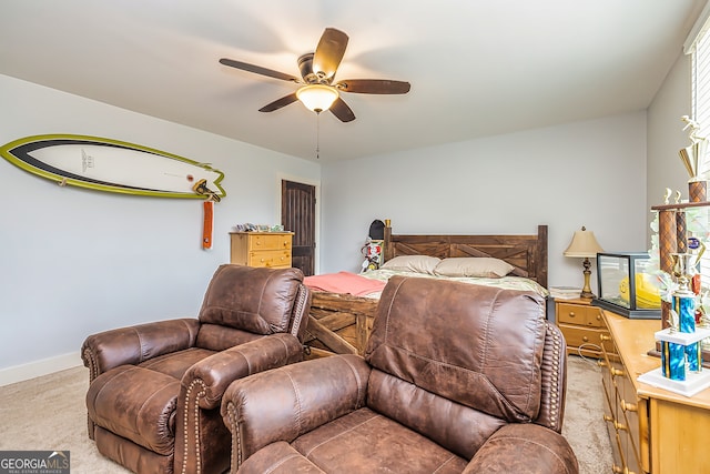
M 536 424 L 511 423 L 484 443 L 464 473 L 578 474 L 579 465 L 559 433 Z

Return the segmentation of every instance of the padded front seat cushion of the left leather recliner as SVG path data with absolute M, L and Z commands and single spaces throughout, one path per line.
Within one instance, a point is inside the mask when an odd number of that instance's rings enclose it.
M 99 426 L 159 454 L 173 453 L 180 380 L 135 365 L 99 375 L 87 392 Z

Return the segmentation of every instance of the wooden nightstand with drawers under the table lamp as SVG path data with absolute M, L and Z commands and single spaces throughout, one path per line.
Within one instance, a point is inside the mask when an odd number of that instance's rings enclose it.
M 601 344 L 613 352 L 601 307 L 592 306 L 591 300 L 555 300 L 555 321 L 565 335 L 568 354 L 601 359 Z

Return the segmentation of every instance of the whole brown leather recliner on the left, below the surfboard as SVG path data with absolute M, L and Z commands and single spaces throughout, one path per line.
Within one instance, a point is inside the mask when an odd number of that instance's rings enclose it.
M 311 293 L 297 269 L 222 265 L 197 319 L 89 336 L 89 436 L 136 473 L 222 473 L 230 432 L 220 415 L 236 379 L 303 360 Z

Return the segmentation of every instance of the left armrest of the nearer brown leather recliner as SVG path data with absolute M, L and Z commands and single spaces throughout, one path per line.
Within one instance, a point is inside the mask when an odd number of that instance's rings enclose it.
M 222 418 L 232 432 L 233 472 L 267 444 L 291 443 L 364 406 L 371 370 L 358 355 L 333 355 L 232 383 Z

